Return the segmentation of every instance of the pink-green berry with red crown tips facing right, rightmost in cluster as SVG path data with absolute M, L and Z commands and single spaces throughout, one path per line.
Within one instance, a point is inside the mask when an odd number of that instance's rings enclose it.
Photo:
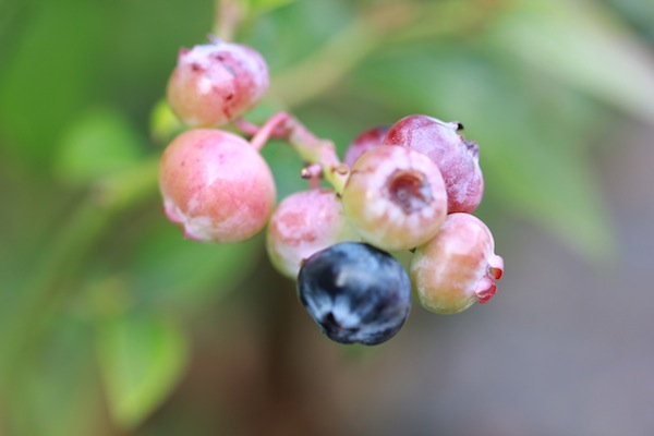
M 504 259 L 494 253 L 486 225 L 470 214 L 448 215 L 432 241 L 417 247 L 410 265 L 420 304 L 439 314 L 455 314 L 495 295 Z

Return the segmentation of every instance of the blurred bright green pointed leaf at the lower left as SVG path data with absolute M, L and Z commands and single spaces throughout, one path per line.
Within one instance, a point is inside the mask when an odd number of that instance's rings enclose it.
M 177 386 L 189 344 L 171 319 L 129 313 L 99 323 L 97 351 L 111 415 L 133 428 Z

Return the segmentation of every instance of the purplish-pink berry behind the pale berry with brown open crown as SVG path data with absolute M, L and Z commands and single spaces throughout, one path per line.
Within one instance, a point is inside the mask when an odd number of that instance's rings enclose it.
M 395 123 L 385 145 L 399 145 L 429 157 L 443 174 L 448 196 L 448 214 L 472 214 L 482 202 L 484 177 L 480 147 L 457 132 L 459 123 L 445 123 L 427 116 L 409 116 Z

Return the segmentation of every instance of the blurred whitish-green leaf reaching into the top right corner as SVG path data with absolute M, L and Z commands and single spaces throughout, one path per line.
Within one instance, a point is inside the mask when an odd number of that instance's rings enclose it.
M 654 121 L 654 56 L 598 2 L 514 2 L 488 37 L 568 86 Z

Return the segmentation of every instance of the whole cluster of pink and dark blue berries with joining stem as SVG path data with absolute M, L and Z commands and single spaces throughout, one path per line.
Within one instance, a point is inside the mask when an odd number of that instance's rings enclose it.
M 340 161 L 331 142 L 288 113 L 262 126 L 241 119 L 267 86 L 266 63 L 252 48 L 211 39 L 181 50 L 168 101 L 190 130 L 165 150 L 159 181 L 166 216 L 187 238 L 240 242 L 266 228 L 270 262 L 298 280 L 308 314 L 341 343 L 395 336 L 412 289 L 441 314 L 495 294 L 504 261 L 471 215 L 484 180 L 479 146 L 460 123 L 409 116 L 363 132 Z M 277 206 L 259 154 L 270 137 L 295 149 L 310 181 Z M 389 254 L 398 251 L 413 252 L 409 272 Z

